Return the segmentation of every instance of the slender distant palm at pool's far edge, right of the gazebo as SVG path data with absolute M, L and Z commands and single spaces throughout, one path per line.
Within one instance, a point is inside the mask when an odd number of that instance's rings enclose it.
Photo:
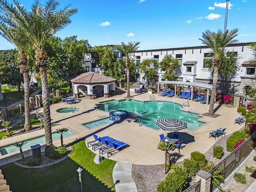
M 121 43 L 121 45 L 116 45 L 115 48 L 122 52 L 123 55 L 125 55 L 125 67 L 126 67 L 126 77 L 127 77 L 127 96 L 126 97 L 131 97 L 130 95 L 130 63 L 131 63 L 131 58 L 130 54 L 134 51 L 136 51 L 139 47 L 138 45 L 140 42 L 128 42 L 126 45 L 124 42 Z

